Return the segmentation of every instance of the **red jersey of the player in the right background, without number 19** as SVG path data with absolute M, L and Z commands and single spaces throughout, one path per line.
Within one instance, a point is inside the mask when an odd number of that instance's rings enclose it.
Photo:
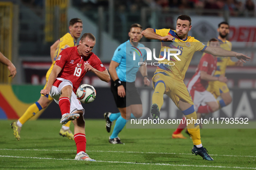
M 188 91 L 191 91 L 191 89 L 196 91 L 205 91 L 206 86 L 208 85 L 208 81 L 202 80 L 200 78 L 201 71 L 207 72 L 207 74 L 214 76 L 214 72 L 217 68 L 217 57 L 214 58 L 211 54 L 205 54 L 196 69 L 196 72 L 192 79 L 188 82 Z

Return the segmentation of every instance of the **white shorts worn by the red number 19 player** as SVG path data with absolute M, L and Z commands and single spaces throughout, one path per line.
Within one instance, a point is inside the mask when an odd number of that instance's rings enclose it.
M 53 83 L 51 91 L 50 91 L 50 96 L 54 99 L 54 101 L 58 104 L 58 100 L 60 95 L 62 94 L 62 88 L 64 88 L 67 85 L 71 85 L 73 88 L 73 84 L 71 81 L 62 79 L 62 78 L 57 78 L 57 81 Z M 82 110 L 83 115 L 84 115 L 84 108 L 82 107 L 80 101 L 78 101 L 78 98 L 74 91 L 72 91 L 71 98 L 70 98 L 70 113 L 73 113 L 77 110 Z

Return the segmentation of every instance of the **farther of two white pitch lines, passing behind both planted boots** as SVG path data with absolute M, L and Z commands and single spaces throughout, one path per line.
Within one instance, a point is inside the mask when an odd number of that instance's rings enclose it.
M 50 149 L 0 149 L 0 150 L 13 150 L 13 151 L 74 151 L 75 150 L 50 150 Z M 135 151 L 86 151 L 86 152 L 116 152 L 116 153 L 135 153 L 135 154 L 181 154 L 192 155 L 185 153 L 168 153 L 168 152 L 135 152 Z M 256 156 L 243 156 L 243 155 L 222 155 L 222 154 L 210 154 L 211 156 L 223 156 L 223 157 L 256 157 Z

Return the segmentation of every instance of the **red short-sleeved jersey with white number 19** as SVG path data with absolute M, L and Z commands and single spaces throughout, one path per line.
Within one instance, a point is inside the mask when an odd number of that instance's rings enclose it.
M 62 68 L 57 78 L 71 81 L 74 93 L 76 93 L 86 73 L 86 71 L 84 71 L 84 64 L 90 64 L 94 69 L 100 72 L 106 69 L 100 59 L 92 52 L 87 57 L 81 57 L 78 54 L 77 47 L 69 47 L 62 50 L 55 63 Z

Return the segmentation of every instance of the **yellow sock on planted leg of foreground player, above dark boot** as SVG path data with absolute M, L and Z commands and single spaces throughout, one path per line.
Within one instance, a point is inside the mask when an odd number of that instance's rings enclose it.
M 194 145 L 200 145 L 202 142 L 201 142 L 199 125 L 195 122 L 197 119 L 196 112 L 194 111 L 193 113 L 185 116 L 187 118 L 187 123 L 189 123 L 187 126 L 188 133 L 191 135 Z M 189 120 L 191 121 L 188 122 Z

